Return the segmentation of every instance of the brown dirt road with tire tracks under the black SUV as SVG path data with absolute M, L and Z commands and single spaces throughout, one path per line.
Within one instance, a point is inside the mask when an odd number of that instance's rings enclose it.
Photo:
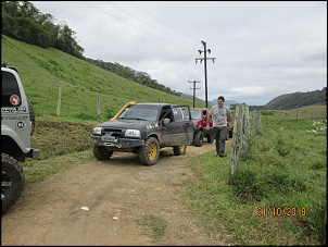
M 192 177 L 185 163 L 214 149 L 204 143 L 188 146 L 185 156 L 174 156 L 172 148 L 165 148 L 152 166 L 140 165 L 134 153 L 116 152 L 110 160 L 94 159 L 28 185 L 1 219 L 1 246 L 220 245 L 178 193 Z M 137 223 L 146 215 L 165 222 L 160 239 Z

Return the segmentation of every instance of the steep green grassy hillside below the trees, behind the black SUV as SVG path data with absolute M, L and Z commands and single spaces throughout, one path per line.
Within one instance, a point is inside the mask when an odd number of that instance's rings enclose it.
M 115 114 L 128 101 L 192 106 L 192 99 L 125 79 L 60 50 L 43 49 L 4 35 L 1 35 L 1 63 L 18 70 L 39 119 L 56 118 L 60 87 L 61 119 L 66 120 L 96 121 L 98 94 L 101 121 Z M 203 102 L 195 102 L 195 107 L 203 106 Z

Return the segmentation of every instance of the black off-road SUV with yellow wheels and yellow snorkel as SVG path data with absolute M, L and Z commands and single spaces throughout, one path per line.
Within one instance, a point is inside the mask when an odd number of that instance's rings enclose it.
M 141 164 L 153 165 L 161 148 L 173 147 L 174 155 L 185 155 L 193 132 L 189 106 L 127 103 L 113 119 L 92 129 L 93 156 L 105 160 L 114 151 L 135 152 Z

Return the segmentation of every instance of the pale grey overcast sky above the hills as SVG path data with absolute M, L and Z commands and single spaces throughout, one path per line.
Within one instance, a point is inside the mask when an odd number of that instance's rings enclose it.
M 85 57 L 146 72 L 179 92 L 199 88 L 203 100 L 205 74 L 209 101 L 223 95 L 249 106 L 327 86 L 327 1 L 31 3 L 67 24 Z

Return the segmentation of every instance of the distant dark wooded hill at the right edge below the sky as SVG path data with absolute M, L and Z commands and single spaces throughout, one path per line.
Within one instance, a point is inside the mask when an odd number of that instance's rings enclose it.
M 264 107 L 275 110 L 291 110 L 313 104 L 327 106 L 327 87 L 321 90 L 285 94 L 274 98 Z

